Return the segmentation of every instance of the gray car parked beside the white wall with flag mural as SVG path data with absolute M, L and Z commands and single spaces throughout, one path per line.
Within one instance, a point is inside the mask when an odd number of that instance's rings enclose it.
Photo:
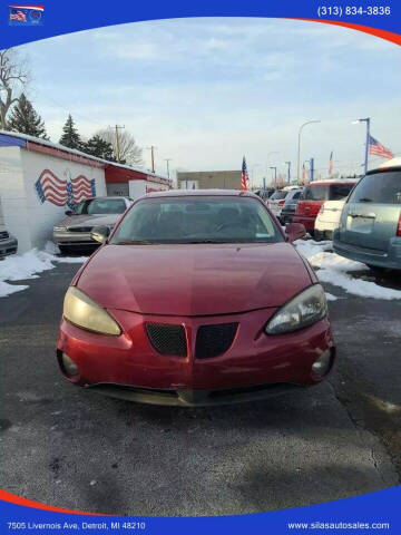
M 62 221 L 53 226 L 53 242 L 61 253 L 99 246 L 90 237 L 95 226 L 114 227 L 121 214 L 131 205 L 129 197 L 94 197 L 67 211 Z

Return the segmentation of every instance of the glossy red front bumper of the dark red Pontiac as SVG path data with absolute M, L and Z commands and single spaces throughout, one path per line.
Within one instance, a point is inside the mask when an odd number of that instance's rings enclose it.
M 59 362 L 65 352 L 78 367 L 68 380 L 101 393 L 163 405 L 215 405 L 271 396 L 292 386 L 310 386 L 322 380 L 312 364 L 334 342 L 329 319 L 309 328 L 267 335 L 264 325 L 276 309 L 225 317 L 176 318 L 109 310 L 123 328 L 119 337 L 85 331 L 61 320 L 57 342 Z M 150 323 L 184 325 L 187 356 L 158 353 L 151 346 L 145 320 Z M 232 346 L 221 356 L 196 357 L 196 334 L 205 324 L 238 322 Z M 62 364 L 61 364 L 62 370 Z M 65 373 L 66 374 L 66 373 Z M 153 401 L 150 400 L 153 399 Z

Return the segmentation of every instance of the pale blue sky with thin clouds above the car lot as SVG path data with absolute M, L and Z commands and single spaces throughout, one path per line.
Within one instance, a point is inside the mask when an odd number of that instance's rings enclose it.
M 326 176 L 360 173 L 364 124 L 401 155 L 401 50 L 351 29 L 316 22 L 194 18 L 114 26 L 20 47 L 32 80 L 28 96 L 58 142 L 68 113 L 80 134 L 124 125 L 156 146 L 156 171 L 239 169 L 254 185 L 271 167 L 296 176 L 314 157 Z M 382 160 L 371 158 L 374 167 Z M 306 164 L 307 166 L 307 164 Z

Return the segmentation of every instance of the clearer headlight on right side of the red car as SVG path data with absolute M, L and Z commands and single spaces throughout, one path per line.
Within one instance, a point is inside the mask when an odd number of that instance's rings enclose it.
M 267 334 L 283 334 L 312 325 L 327 315 L 324 290 L 313 284 L 277 310 L 265 327 Z

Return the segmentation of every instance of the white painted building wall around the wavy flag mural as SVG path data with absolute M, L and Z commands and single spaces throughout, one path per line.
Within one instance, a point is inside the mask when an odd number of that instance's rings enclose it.
M 51 240 L 52 226 L 65 216 L 68 206 L 40 198 L 36 183 L 49 169 L 61 181 L 82 175 L 95 181 L 96 195 L 106 195 L 105 171 L 21 147 L 0 147 L 0 196 L 4 223 L 17 236 L 19 253 L 41 249 Z

